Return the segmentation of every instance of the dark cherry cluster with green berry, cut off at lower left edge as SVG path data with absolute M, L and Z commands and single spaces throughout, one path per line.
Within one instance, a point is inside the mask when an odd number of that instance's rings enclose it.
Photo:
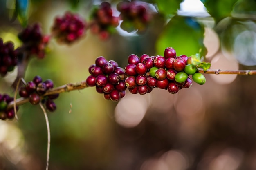
M 13 119 L 15 116 L 14 108 L 7 109 L 7 105 L 13 101 L 13 97 L 10 97 L 7 94 L 0 94 L 0 119 Z M 16 106 L 18 110 L 18 106 Z

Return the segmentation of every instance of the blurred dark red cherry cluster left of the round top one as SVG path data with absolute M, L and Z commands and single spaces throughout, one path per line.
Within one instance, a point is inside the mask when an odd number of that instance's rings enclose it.
M 41 27 L 38 23 L 29 25 L 18 34 L 18 38 L 22 41 L 25 50 L 38 58 L 45 57 L 45 50 L 50 40 L 49 35 L 43 35 Z

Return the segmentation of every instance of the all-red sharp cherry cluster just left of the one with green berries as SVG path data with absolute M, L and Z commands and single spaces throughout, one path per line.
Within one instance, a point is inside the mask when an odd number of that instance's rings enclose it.
M 91 75 L 87 77 L 86 84 L 96 86 L 96 91 L 103 93 L 105 99 L 117 102 L 125 96 L 126 86 L 120 77 L 124 75 L 124 69 L 114 60 L 97 57 L 95 64 L 89 67 L 89 73 Z

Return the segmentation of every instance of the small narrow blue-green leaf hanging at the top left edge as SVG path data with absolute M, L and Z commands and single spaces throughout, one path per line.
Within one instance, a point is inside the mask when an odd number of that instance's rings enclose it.
M 23 27 L 27 26 L 27 11 L 29 7 L 28 0 L 16 0 L 15 4 L 15 11 L 18 15 L 18 19 L 20 21 L 20 24 Z

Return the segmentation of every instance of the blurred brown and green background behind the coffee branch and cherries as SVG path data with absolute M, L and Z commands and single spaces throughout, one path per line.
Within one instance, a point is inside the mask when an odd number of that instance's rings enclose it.
M 111 1 L 114 7 L 118 2 Z M 26 82 L 35 75 L 52 79 L 55 87 L 79 82 L 99 56 L 124 68 L 128 55 L 163 55 L 168 46 L 187 56 L 207 49 L 211 69 L 256 69 L 255 0 L 233 0 L 232 17 L 221 20 L 213 19 L 200 0 L 178 3 L 178 15 L 167 20 L 157 13 L 157 4 L 148 2 L 154 14 L 144 34 L 117 28 L 104 41 L 90 31 L 72 45 L 53 40 L 44 59 L 29 62 Z M 28 23 L 39 22 L 49 34 L 56 16 L 75 11 L 88 19 L 91 7 L 100 3 L 31 0 Z M 18 20 L 11 22 L 13 10 L 13 1 L 0 0 L 0 37 L 18 47 L 22 27 Z M 14 70 L 0 79 L 0 93 L 14 95 L 10 86 L 16 75 Z M 256 76 L 205 76 L 206 84 L 193 83 L 175 95 L 157 88 L 146 95 L 126 91 L 117 103 L 94 87 L 62 93 L 57 110 L 48 114 L 49 170 L 256 170 Z M 18 122 L 0 121 L 0 170 L 44 170 L 43 112 L 27 103 L 18 117 Z

